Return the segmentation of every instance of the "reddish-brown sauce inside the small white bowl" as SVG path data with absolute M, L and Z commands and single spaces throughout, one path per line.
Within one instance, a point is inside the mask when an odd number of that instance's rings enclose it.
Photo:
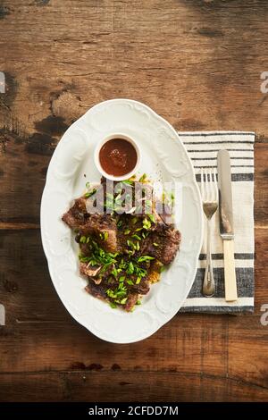
M 136 166 L 138 155 L 135 147 L 125 139 L 108 140 L 99 152 L 99 162 L 106 173 L 123 176 Z

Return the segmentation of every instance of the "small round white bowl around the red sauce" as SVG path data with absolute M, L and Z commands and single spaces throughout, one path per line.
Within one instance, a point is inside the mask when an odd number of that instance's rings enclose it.
M 135 165 L 135 167 L 132 169 L 131 172 L 126 173 L 125 175 L 122 176 L 113 176 L 110 175 L 110 173 L 105 172 L 104 168 L 102 167 L 100 160 L 99 160 L 99 153 L 101 148 L 105 145 L 105 143 L 107 143 L 107 141 L 112 140 L 112 139 L 124 139 L 130 142 L 130 144 L 135 148 L 136 153 L 137 153 L 137 163 Z M 130 138 L 130 136 L 123 134 L 123 133 L 112 133 L 109 134 L 109 136 L 106 136 L 105 139 L 102 139 L 97 145 L 96 145 L 96 149 L 94 152 L 94 161 L 96 164 L 96 168 L 99 172 L 101 172 L 101 174 L 103 176 L 105 176 L 105 178 L 107 178 L 108 180 L 111 181 L 123 181 L 123 180 L 127 180 L 129 179 L 132 175 L 134 175 L 135 172 L 137 172 L 138 170 L 138 165 L 140 163 L 140 149 L 138 147 L 138 144 L 136 143 L 136 141 L 134 141 L 133 139 Z

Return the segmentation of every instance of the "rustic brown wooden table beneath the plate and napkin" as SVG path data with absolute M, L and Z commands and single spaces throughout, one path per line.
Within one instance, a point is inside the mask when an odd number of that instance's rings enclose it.
M 1 400 L 268 399 L 267 20 L 261 0 L 0 2 Z M 71 122 L 113 97 L 177 130 L 256 132 L 254 315 L 176 315 L 114 345 L 64 309 L 40 240 L 46 168 Z

